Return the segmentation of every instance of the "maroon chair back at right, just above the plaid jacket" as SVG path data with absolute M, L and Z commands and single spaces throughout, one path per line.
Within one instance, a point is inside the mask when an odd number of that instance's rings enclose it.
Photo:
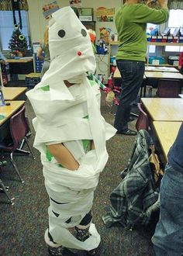
M 149 118 L 147 113 L 143 111 L 142 103 L 137 104 L 138 109 L 140 110 L 138 119 L 136 120 L 136 130 L 149 130 Z

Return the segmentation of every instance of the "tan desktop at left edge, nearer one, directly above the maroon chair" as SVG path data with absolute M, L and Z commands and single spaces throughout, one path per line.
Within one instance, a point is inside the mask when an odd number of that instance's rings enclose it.
M 0 126 L 7 121 L 17 110 L 25 104 L 24 100 L 11 101 L 9 106 L 0 106 L 0 115 L 5 116 L 4 119 L 0 119 Z

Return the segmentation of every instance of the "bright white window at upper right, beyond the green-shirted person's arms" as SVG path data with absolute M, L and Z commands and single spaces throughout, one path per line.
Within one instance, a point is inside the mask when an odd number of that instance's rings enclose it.
M 167 22 L 167 27 L 171 29 L 171 34 L 174 33 L 174 29 L 181 27 L 183 29 L 183 10 L 170 10 L 170 16 Z M 180 52 L 183 51 L 183 47 L 165 47 L 165 51 Z

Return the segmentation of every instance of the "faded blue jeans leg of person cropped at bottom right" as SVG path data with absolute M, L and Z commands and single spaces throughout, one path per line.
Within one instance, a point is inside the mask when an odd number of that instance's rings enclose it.
M 183 255 L 183 170 L 165 168 L 161 181 L 160 220 L 152 237 L 156 256 Z

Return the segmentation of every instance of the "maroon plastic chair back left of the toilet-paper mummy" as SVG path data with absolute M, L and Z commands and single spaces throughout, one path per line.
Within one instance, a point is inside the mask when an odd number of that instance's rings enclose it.
M 26 106 L 22 106 L 19 112 L 16 112 L 10 118 L 9 128 L 12 135 L 13 147 L 17 148 L 19 143 L 26 137 L 27 123 L 25 116 Z

